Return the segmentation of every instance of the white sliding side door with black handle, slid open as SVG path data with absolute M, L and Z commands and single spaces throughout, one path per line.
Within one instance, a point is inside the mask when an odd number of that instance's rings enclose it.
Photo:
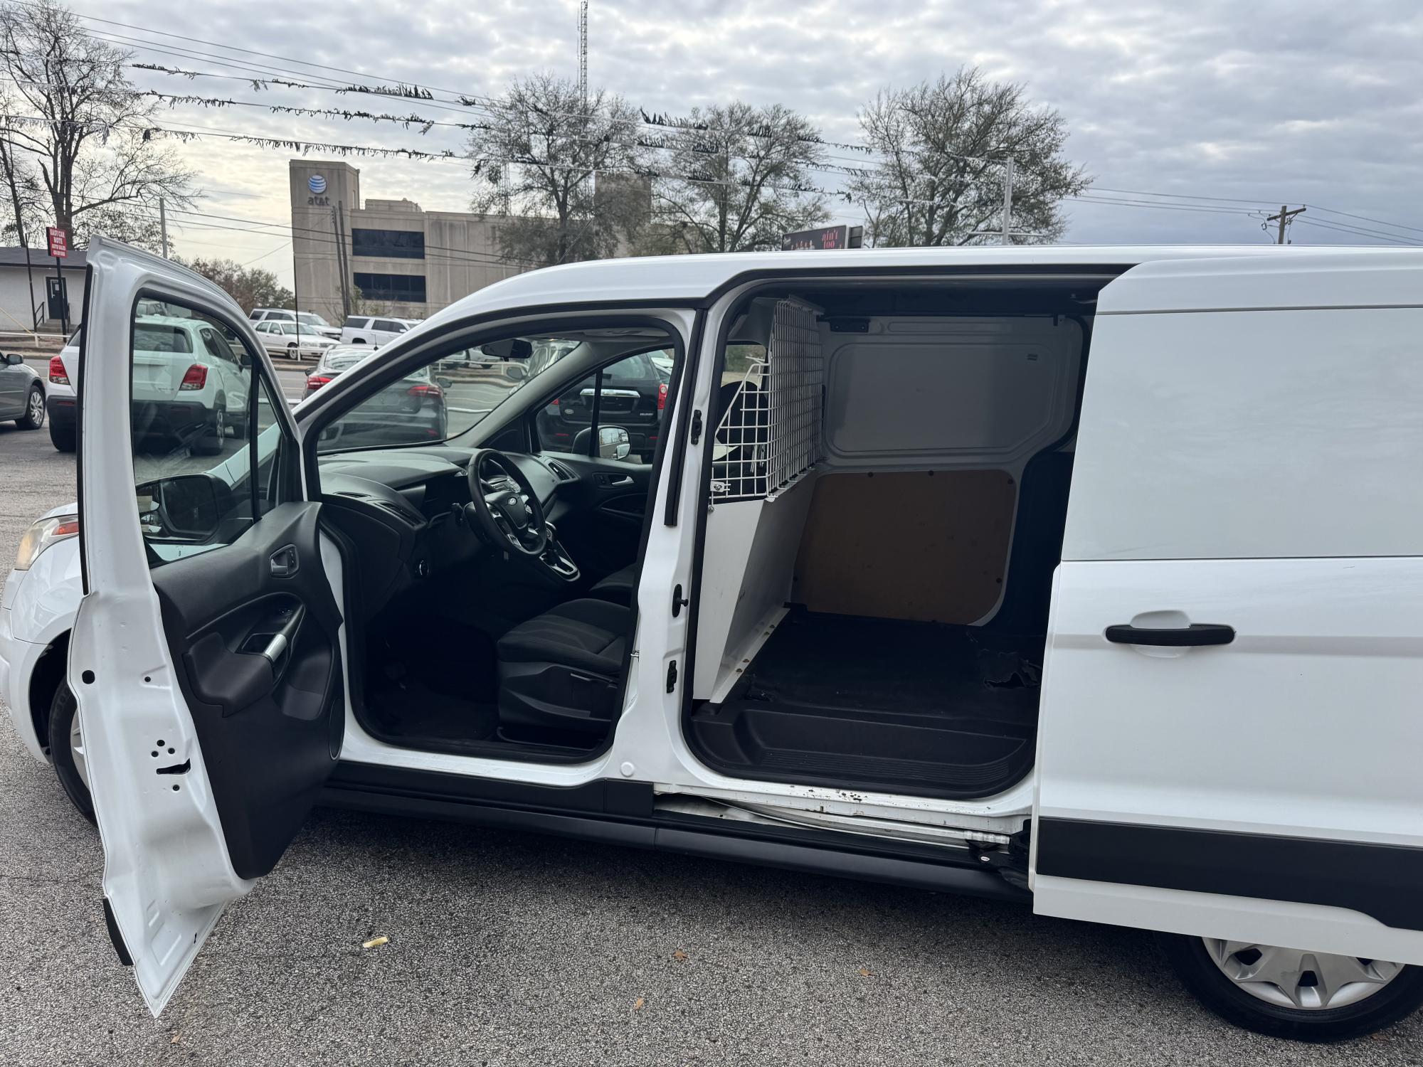
M 1423 253 L 1148 263 L 1094 324 L 1035 909 L 1423 963 Z

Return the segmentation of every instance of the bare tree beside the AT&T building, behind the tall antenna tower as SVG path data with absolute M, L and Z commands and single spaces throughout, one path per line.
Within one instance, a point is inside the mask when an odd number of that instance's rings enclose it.
M 470 134 L 472 206 L 505 215 L 505 259 L 552 265 L 610 256 L 646 222 L 636 181 L 639 115 L 602 90 L 535 74 L 514 81 Z

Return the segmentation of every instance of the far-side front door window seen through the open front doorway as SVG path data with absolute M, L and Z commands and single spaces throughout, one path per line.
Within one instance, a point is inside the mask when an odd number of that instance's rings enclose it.
M 539 447 L 650 464 L 662 437 L 672 359 L 670 349 L 638 353 L 571 384 L 539 410 Z

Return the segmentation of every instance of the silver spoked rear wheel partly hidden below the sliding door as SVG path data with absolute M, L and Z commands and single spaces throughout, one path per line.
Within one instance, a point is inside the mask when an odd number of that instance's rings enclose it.
M 1202 940 L 1205 955 L 1239 989 L 1268 1004 L 1306 1012 L 1356 1004 L 1387 986 L 1403 970 L 1399 963 L 1356 956 L 1218 938 Z

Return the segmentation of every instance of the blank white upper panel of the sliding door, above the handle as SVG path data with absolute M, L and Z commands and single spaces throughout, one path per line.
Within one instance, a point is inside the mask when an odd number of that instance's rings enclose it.
M 1103 314 L 1063 559 L 1419 555 L 1420 465 L 1423 307 Z

